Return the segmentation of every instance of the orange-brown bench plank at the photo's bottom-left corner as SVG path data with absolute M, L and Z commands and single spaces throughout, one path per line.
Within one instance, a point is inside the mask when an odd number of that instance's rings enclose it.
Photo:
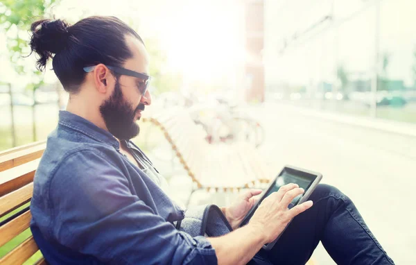
M 36 251 L 39 250 L 35 243 L 33 236 L 28 237 L 23 243 L 14 248 L 12 251 L 7 253 L 2 259 L 0 259 L 1 265 L 15 265 L 23 264 L 28 260 L 29 257 L 32 257 Z

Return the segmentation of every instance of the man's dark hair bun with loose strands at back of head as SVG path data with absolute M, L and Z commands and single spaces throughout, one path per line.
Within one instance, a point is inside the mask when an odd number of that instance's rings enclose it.
M 44 70 L 48 59 L 65 49 L 69 40 L 68 30 L 69 24 L 61 19 L 42 19 L 32 24 L 30 46 L 32 52 L 39 55 L 37 69 Z

